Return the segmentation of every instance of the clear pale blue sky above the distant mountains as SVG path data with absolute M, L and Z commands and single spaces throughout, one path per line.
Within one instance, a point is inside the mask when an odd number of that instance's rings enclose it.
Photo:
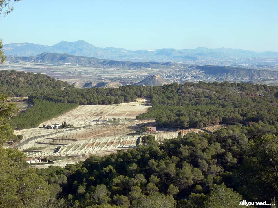
M 278 1 L 22 0 L 0 17 L 3 43 L 278 51 Z

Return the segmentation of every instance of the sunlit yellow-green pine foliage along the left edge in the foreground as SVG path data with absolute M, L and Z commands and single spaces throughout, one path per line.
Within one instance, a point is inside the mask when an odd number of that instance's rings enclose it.
M 16 112 L 13 104 L 6 103 L 7 96 L 0 95 L 1 142 L 10 140 L 12 131 L 9 119 Z M 63 201 L 56 200 L 58 192 L 47 184 L 35 170 L 26 169 L 26 155 L 15 149 L 0 147 L 0 207 L 61 207 Z M 60 187 L 59 187 L 60 188 Z

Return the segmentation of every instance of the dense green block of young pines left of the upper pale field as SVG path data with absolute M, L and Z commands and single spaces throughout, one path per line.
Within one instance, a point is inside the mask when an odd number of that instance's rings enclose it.
M 78 104 L 74 103 L 54 103 L 41 99 L 32 99 L 32 102 L 34 106 L 10 120 L 12 127 L 16 129 L 35 128 L 49 119 L 78 107 Z

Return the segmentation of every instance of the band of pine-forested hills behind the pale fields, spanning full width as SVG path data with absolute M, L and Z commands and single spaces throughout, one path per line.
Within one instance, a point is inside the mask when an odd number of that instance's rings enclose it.
M 153 107 L 142 118 L 155 118 L 163 127 L 204 127 L 278 120 L 278 87 L 248 83 L 177 83 L 164 86 L 74 88 L 41 74 L 1 71 L 0 90 L 9 96 L 29 96 L 56 103 L 117 104 L 137 97 L 151 99 Z

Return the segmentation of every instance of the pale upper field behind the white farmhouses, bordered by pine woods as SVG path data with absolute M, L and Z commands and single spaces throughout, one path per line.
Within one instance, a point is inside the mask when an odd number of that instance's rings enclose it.
M 67 124 L 73 124 L 74 127 L 81 127 L 85 125 L 94 124 L 100 116 L 105 118 L 117 119 L 135 119 L 139 114 L 149 111 L 150 105 L 145 105 L 144 102 L 131 102 L 114 105 L 80 105 L 61 116 L 43 122 L 43 124 L 50 125 L 53 123 L 62 124 L 64 121 Z

